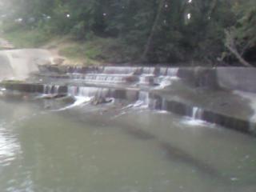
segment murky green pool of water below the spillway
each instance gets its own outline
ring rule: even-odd
[[[244,134],[146,110],[0,106],[0,191],[256,191]]]

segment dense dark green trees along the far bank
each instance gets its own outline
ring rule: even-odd
[[[255,60],[255,0],[8,0],[6,6],[8,22],[22,18],[23,27],[79,41],[114,38],[139,62]]]

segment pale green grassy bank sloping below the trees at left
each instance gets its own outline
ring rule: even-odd
[[[2,26],[2,38],[16,48],[43,48],[66,57],[69,64],[99,65],[104,63],[123,63],[135,60],[138,51],[125,46],[118,38],[99,38],[76,40],[69,35],[46,34],[42,30],[27,29],[13,24]]]

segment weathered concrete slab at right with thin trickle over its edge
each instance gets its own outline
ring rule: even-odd
[[[194,89],[184,82],[175,82],[169,89],[150,93],[151,107],[192,117],[200,109],[199,119],[241,132],[254,132],[255,110],[250,99],[227,90]]]

